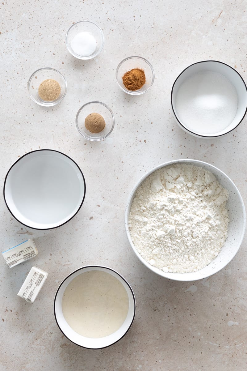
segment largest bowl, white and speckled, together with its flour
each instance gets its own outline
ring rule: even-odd
[[[145,174],[125,212],[131,247],[153,272],[192,281],[233,259],[243,240],[246,211],[231,179],[198,160],[175,160]]]

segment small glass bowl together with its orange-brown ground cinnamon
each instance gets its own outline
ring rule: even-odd
[[[140,95],[153,85],[154,69],[145,58],[128,57],[117,66],[116,79],[125,93]]]

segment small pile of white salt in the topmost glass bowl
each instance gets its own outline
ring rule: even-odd
[[[74,53],[81,57],[88,57],[95,51],[97,41],[90,32],[80,32],[73,37],[70,46]]]

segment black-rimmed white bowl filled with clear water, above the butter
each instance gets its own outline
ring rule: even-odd
[[[4,200],[20,223],[34,229],[61,226],[80,210],[86,184],[79,166],[54,150],[20,157],[4,181]]]

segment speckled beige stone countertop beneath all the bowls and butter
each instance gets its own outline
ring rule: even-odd
[[[79,213],[64,226],[31,230],[0,200],[1,249],[34,238],[39,255],[13,269],[1,260],[1,371],[242,371],[247,364],[246,239],[236,257],[214,276],[174,282],[147,269],[124,230],[124,209],[136,181],[162,162],[194,158],[216,165],[237,185],[246,203],[246,119],[217,139],[186,134],[174,121],[171,87],[191,63],[214,59],[247,80],[245,1],[6,1],[0,3],[1,164],[7,170],[39,148],[59,150],[81,167],[87,185]],[[73,22],[103,29],[105,46],[93,60],[73,58],[65,45]],[[144,95],[122,92],[115,79],[120,60],[140,55],[155,71]],[[53,108],[29,98],[34,70],[53,67],[68,91]],[[113,110],[116,125],[104,141],[83,139],[76,112],[98,100]],[[120,272],[136,295],[136,318],[112,347],[79,348],[59,331],[53,299],[61,280],[87,264]],[[17,297],[32,265],[48,272],[33,305]]]

